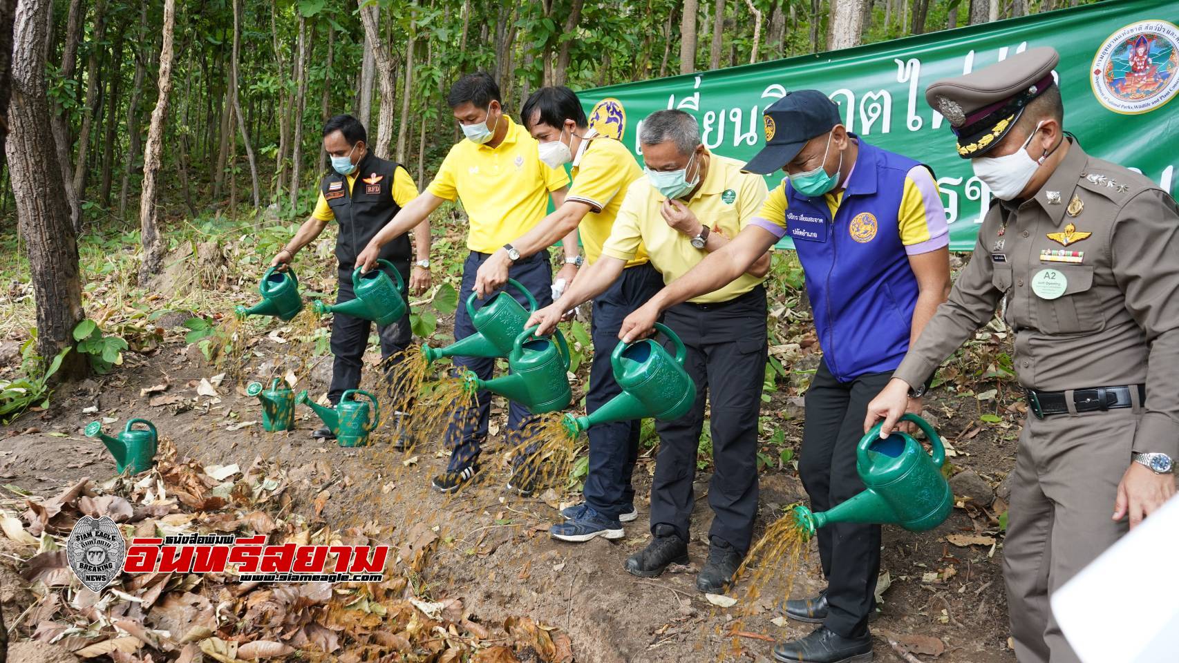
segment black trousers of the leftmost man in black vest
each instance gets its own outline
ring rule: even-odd
[[[382,267],[388,271],[388,267]],[[409,268],[399,268],[401,278],[409,286]],[[353,292],[353,270],[340,268],[337,277],[340,289],[336,292],[336,304],[356,299]],[[409,294],[406,293],[406,309],[409,309]],[[368,334],[373,329],[373,321],[363,318],[354,318],[343,313],[331,314],[331,386],[328,389],[328,400],[332,404],[340,403],[340,397],[349,389],[361,385],[361,366],[363,365],[364,350],[368,349]],[[413,333],[409,329],[409,313],[391,325],[377,325],[377,337],[381,339],[381,359],[397,356],[393,363],[400,360],[401,352],[409,346]],[[391,366],[393,363],[389,365]]]

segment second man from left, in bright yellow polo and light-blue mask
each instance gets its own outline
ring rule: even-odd
[[[450,87],[447,104],[462,127],[466,139],[450,148],[434,181],[426,191],[409,201],[361,252],[357,263],[365,268],[376,265],[376,258],[384,243],[402,234],[429,217],[444,200],[459,199],[467,212],[467,256],[462,267],[462,286],[459,300],[466,301],[474,292],[475,274],[492,253],[505,244],[529,231],[545,218],[548,198],[560,207],[569,178],[562,170],[554,170],[540,160],[536,140],[523,127],[503,113],[500,105],[500,87],[490,74],[479,72],[459,79]],[[577,231],[564,241],[567,258],[578,256]],[[540,251],[528,258],[519,258],[508,276],[522,284],[536,299],[547,305],[553,300],[553,273],[548,264],[548,252]],[[525,293],[509,289],[507,292],[528,306]],[[487,298],[476,300],[479,309]],[[454,320],[455,339],[475,333],[466,306],[459,306]],[[495,370],[495,360],[475,357],[455,357],[455,367],[469,369],[480,378],[488,379]],[[442,492],[462,488],[479,471],[479,453],[487,438],[487,420],[490,415],[492,396],[480,392],[476,411],[456,412],[446,432],[446,444],[453,447],[447,471],[434,478],[433,485]],[[520,444],[519,435],[528,419],[528,410],[512,403],[508,410],[508,444]],[[519,478],[513,477],[516,483]],[[508,488],[515,488],[508,482]]]

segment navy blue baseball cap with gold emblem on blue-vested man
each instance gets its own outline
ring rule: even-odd
[[[798,155],[806,141],[843,124],[839,107],[817,89],[788,92],[762,115],[765,147],[742,168],[768,175]]]

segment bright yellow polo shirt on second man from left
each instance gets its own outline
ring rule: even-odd
[[[532,230],[548,210],[548,193],[569,184],[564,168],[549,168],[536,139],[503,115],[503,141],[495,147],[462,139],[450,148],[426,191],[459,199],[467,211],[467,248],[493,253]]]

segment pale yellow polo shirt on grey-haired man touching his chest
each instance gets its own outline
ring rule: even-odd
[[[757,216],[768,190],[760,175],[740,172],[745,164],[736,159],[709,153],[709,172],[699,191],[687,200],[687,207],[711,232],[727,238],[737,237]],[[667,225],[659,207],[664,197],[646,178],[635,180],[626,190],[626,199],[618,211],[614,230],[602,246],[602,254],[619,260],[634,258],[639,244],[647,247],[651,264],[664,277],[664,284],[684,276],[704,259],[707,251],[692,246],[692,238]],[[697,304],[727,301],[753,290],[765,277],[742,274],[729,285],[690,299]]]

